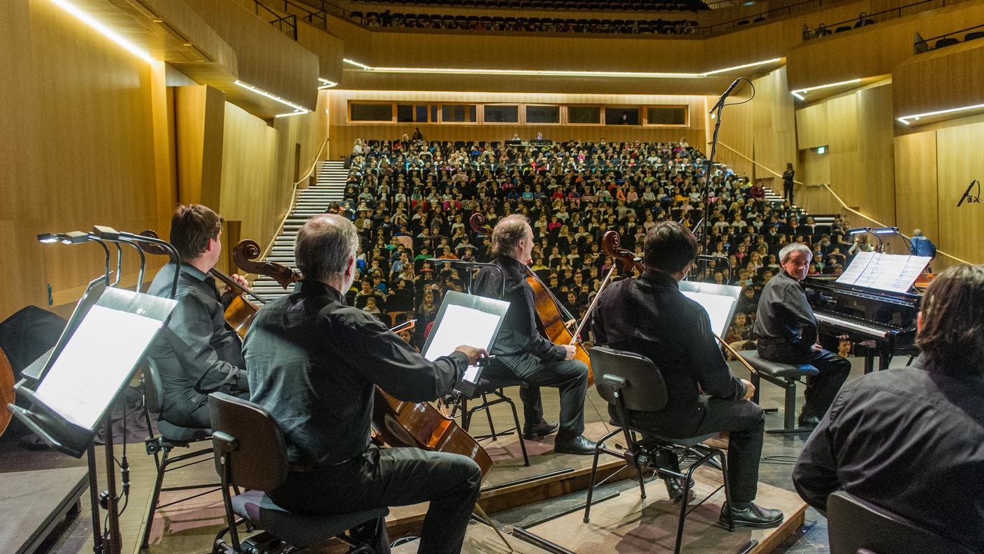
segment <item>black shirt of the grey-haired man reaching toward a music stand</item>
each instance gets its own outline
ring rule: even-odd
[[[314,467],[368,447],[376,384],[400,400],[433,400],[468,365],[460,352],[424,360],[371,313],[313,280],[257,312],[243,355],[250,399],[277,420],[288,462]]]

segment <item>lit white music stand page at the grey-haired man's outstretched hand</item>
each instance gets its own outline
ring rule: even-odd
[[[489,350],[508,310],[509,303],[502,300],[448,292],[427,336],[423,357],[433,362],[461,345]],[[479,366],[468,367],[456,388],[469,394],[480,374]]]

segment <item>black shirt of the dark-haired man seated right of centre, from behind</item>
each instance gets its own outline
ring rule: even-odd
[[[592,324],[598,344],[646,356],[666,382],[666,410],[691,412],[704,393],[725,400],[745,395],[731,375],[700,304],[685,297],[673,277],[647,270],[608,286]]]

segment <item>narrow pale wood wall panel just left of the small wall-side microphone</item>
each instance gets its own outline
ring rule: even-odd
[[[895,137],[895,223],[906,235],[921,229],[940,237],[936,131]]]

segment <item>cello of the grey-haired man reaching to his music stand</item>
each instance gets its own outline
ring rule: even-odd
[[[260,254],[256,242],[239,242],[232,251],[233,261],[243,271],[272,277],[284,287],[300,279],[297,272],[279,263],[253,261]],[[408,323],[412,324],[412,321]],[[391,330],[398,332],[406,326],[403,323]],[[481,469],[482,481],[492,470],[492,458],[488,452],[461,429],[454,418],[427,402],[399,400],[379,385],[373,394],[372,427],[376,436],[390,447],[411,447],[468,456]]]

